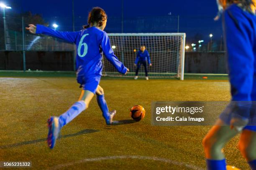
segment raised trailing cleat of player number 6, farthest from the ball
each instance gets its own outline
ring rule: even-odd
[[[59,117],[51,116],[47,120],[49,133],[47,137],[47,144],[50,149],[53,149],[60,132]]]

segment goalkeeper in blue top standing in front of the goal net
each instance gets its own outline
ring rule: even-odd
[[[148,80],[148,65],[147,65],[147,61],[148,61],[149,66],[152,66],[148,50],[146,50],[146,46],[145,45],[141,45],[141,50],[138,52],[136,60],[134,62],[134,66],[136,67],[136,75],[134,77],[135,80],[138,79],[138,71],[140,70],[141,64],[143,64],[143,66],[144,66],[146,80]]]

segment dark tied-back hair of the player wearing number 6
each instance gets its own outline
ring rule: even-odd
[[[88,15],[88,24],[83,25],[83,28],[89,28],[94,23],[98,23],[99,26],[102,26],[103,21],[105,21],[108,18],[107,14],[105,13],[105,10],[103,10],[101,7],[94,7],[90,11]]]

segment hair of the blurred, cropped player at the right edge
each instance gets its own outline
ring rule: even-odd
[[[233,3],[238,4],[243,10],[256,14],[256,0],[218,0],[219,4],[225,9]]]

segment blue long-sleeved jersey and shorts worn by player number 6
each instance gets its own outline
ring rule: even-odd
[[[118,72],[122,74],[127,72],[127,68],[114,55],[107,33],[97,27],[77,32],[60,32],[43,25],[36,25],[36,33],[61,38],[76,44],[77,82],[82,85],[84,90],[90,90],[93,93],[96,91],[102,75],[102,52]]]

